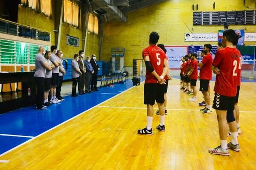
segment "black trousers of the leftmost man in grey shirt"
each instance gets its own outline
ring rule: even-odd
[[[34,77],[36,84],[36,107],[41,108],[44,104],[44,77]]]

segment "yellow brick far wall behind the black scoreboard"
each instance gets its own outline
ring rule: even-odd
[[[213,10],[215,2],[215,10]],[[128,21],[120,23],[111,21],[105,24],[102,46],[102,60],[109,61],[111,48],[125,47],[125,66],[132,66],[133,59],[141,59],[143,48],[148,46],[151,31],[160,35],[158,43],[165,45],[204,45],[217,42],[185,42],[184,33],[217,33],[224,26],[193,26],[192,4],[198,4],[198,11],[232,11],[253,10],[255,0],[168,0],[126,14]],[[196,11],[196,10],[195,10]],[[245,32],[256,32],[256,26],[229,26],[233,29],[244,29]],[[255,42],[245,42],[256,45]]]

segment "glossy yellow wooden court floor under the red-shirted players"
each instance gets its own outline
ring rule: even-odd
[[[241,83],[239,143],[230,156],[208,153],[219,145],[216,113],[202,114],[198,102],[169,82],[166,131],[142,136],[146,125],[143,83],[0,157],[1,170],[255,170],[256,83]],[[199,87],[199,82],[198,85]],[[211,82],[213,90],[214,82]],[[213,91],[212,91],[213,96]],[[212,97],[213,98],[213,97]],[[212,100],[212,99],[211,99]],[[155,105],[157,108],[157,105]],[[156,111],[156,110],[155,110]],[[229,142],[230,139],[228,139]]]

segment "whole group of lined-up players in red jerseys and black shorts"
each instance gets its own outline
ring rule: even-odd
[[[152,135],[152,121],[154,115],[153,105],[157,102],[160,115],[160,124],[157,130],[165,131],[166,93],[168,81],[172,79],[169,76],[169,65],[166,57],[166,49],[163,44],[158,44],[160,36],[157,32],[151,32],[149,35],[149,45],[143,50],[143,59],[146,65],[145,85],[144,85],[144,104],[147,105],[147,123],[146,127],[137,131],[138,134]],[[221,43],[218,43],[218,51],[215,58],[212,59],[211,44],[205,44],[201,51],[203,60],[198,63],[196,53],[188,54],[182,57],[180,66],[181,88],[192,98],[189,102],[197,101],[197,79],[200,79],[200,88],[204,96],[204,101],[199,105],[204,105],[202,113],[212,113],[215,109],[218,120],[218,130],[220,145],[208,150],[209,153],[216,155],[229,156],[229,150],[239,151],[238,134],[241,133],[239,127],[239,108],[238,98],[241,83],[241,53],[236,48],[239,36],[233,29],[227,29],[223,32]],[[198,68],[200,73],[198,76]],[[211,107],[210,86],[212,72],[216,74],[216,81],[213,91],[214,99]],[[227,136],[231,136],[231,141],[227,142]]]

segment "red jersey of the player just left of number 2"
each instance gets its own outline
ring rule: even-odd
[[[200,69],[200,79],[211,80],[212,79],[212,54],[207,54],[202,60],[204,63],[203,67]]]

